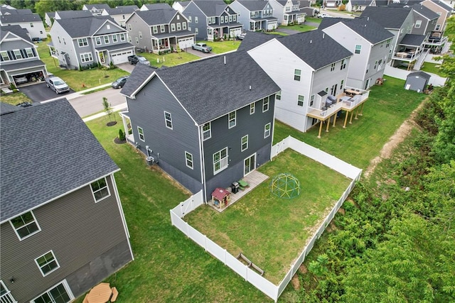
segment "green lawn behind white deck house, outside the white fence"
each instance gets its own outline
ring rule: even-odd
[[[319,124],[306,133],[294,130],[283,123],[275,123],[274,143],[291,135],[309,145],[330,153],[352,165],[365,169],[379,155],[382,146],[396,129],[419,106],[425,94],[405,90],[405,81],[391,77],[382,86],[374,86],[365,102],[363,116],[353,119],[343,128],[344,114],[337,119],[336,127],[323,131],[317,138]],[[325,130],[325,125],[324,125]]]

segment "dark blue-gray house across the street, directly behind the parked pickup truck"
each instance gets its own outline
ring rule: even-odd
[[[198,40],[213,41],[223,37],[237,37],[242,33],[238,13],[223,0],[192,0],[183,9],[189,29]]]

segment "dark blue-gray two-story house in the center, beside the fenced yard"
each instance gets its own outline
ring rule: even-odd
[[[209,199],[270,160],[279,90],[245,52],[159,70],[137,65],[121,91],[127,138]]]

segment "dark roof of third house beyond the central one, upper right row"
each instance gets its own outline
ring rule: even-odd
[[[369,17],[379,23],[383,28],[401,28],[412,9],[387,7],[387,6],[367,6],[361,17]]]

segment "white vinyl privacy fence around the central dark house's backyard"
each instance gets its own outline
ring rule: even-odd
[[[338,202],[336,202],[335,206],[331,210],[330,214],[326,216],[326,219],[322,222],[321,226],[319,226],[318,231],[314,233],[314,235],[309,240],[308,244],[304,247],[301,251],[299,258],[291,265],[291,268],[287,272],[287,275],[284,276],[284,279],[279,283],[279,285],[274,285],[269,280],[265,279],[261,275],[259,275],[255,270],[248,267],[244,263],[237,260],[235,256],[228,253],[225,248],[222,248],[217,243],[207,238],[207,236],[203,235],[191,225],[183,221],[183,216],[188,214],[190,211],[198,208],[198,206],[203,204],[203,192],[200,191],[197,194],[194,194],[185,202],[181,202],[176,207],[171,209],[171,223],[176,228],[180,229],[183,233],[185,233],[188,238],[191,238],[193,241],[199,244],[199,246],[203,247],[208,253],[213,255],[215,258],[220,260],[223,264],[229,266],[232,270],[237,272],[238,275],[243,277],[246,281],[250,282],[254,285],[258,290],[266,294],[268,297],[274,299],[277,302],[278,297],[284,291],[284,288],[288,285],[291,281],[291,278],[295,275],[296,271],[299,269],[301,263],[304,262],[306,255],[309,254],[311,248],[313,248],[314,243],[316,242],[319,237],[321,237],[323,231],[326,229],[330,221],[335,216],[338,209],[340,209],[343,202],[346,200],[350,192],[352,191],[355,181],[360,179],[360,174],[362,170],[353,165],[350,165],[338,158],[329,155],[328,153],[319,150],[318,148],[314,148],[306,143],[296,140],[289,136],[288,138],[284,139],[282,142],[277,143],[277,145],[272,146],[271,151],[271,158],[281,153],[283,150],[287,148],[291,148],[302,155],[305,155],[308,158],[316,160],[323,165],[331,167],[336,172],[345,175],[346,177],[350,178],[352,181],[350,182],[348,188],[343,192]]]

